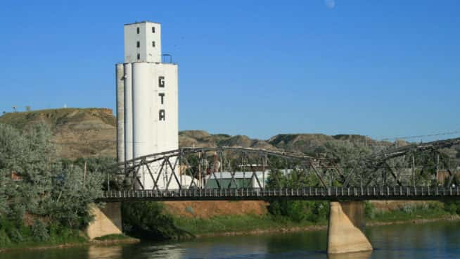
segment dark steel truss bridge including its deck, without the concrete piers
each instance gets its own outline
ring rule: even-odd
[[[358,154],[307,156],[243,147],[181,148],[119,163],[101,201],[443,199],[458,196],[460,138]]]

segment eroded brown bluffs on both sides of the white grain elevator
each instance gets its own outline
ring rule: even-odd
[[[112,110],[106,108],[63,108],[6,113],[0,123],[18,129],[43,122],[53,130],[59,156],[79,158],[89,156],[116,156],[116,122]],[[309,153],[327,142],[350,141],[369,146],[388,146],[391,143],[375,141],[361,135],[278,134],[270,139],[250,139],[247,136],[210,134],[202,130],[179,132],[179,146],[244,146],[260,149],[284,149]],[[402,145],[402,144],[400,144]]]

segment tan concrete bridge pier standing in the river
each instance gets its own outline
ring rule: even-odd
[[[328,253],[371,251],[364,229],[364,202],[331,201],[328,225]]]

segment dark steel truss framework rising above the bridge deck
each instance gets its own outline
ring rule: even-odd
[[[181,148],[115,165],[108,170],[108,190],[167,195],[173,190],[210,189],[230,195],[230,190],[254,189],[262,190],[264,198],[269,195],[264,193],[267,188],[435,187],[440,184],[440,170],[441,184],[456,187],[459,159],[449,158],[442,149],[459,144],[460,138],[411,144],[345,163],[328,156],[243,147]],[[110,187],[110,182],[115,184]]]

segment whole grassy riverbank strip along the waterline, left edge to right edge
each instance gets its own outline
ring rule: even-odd
[[[143,204],[140,204],[143,205]],[[275,234],[290,232],[309,232],[327,229],[327,217],[314,218],[315,221],[295,221],[288,217],[274,216],[269,213],[264,215],[218,215],[213,217],[186,217],[184,215],[172,215],[160,203],[149,203],[145,212],[155,217],[143,217],[146,222],[155,223],[149,225],[153,230],[136,236],[136,233],[126,235],[103,236],[89,241],[82,232],[63,237],[52,236],[48,242],[20,242],[8,247],[0,248],[0,251],[13,251],[18,249],[46,249],[65,248],[70,246],[129,244],[139,242],[141,239],[155,241],[167,239],[193,239],[209,236],[238,236],[247,234]],[[366,203],[366,225],[397,225],[397,224],[423,224],[435,221],[460,221],[460,216],[449,210],[444,203],[430,202],[420,204],[404,204],[391,210],[375,208],[372,203]],[[139,215],[138,208],[133,210]],[[145,215],[144,215],[145,216]],[[159,234],[156,234],[159,233]],[[186,234],[184,234],[186,233]]]

